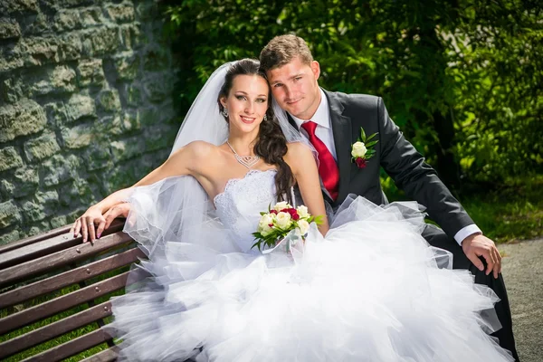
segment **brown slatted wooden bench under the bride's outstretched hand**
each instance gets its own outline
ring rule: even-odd
[[[111,293],[124,292],[129,265],[145,254],[120,220],[94,245],[73,238],[70,227],[0,247],[0,360],[116,359],[100,327]]]

